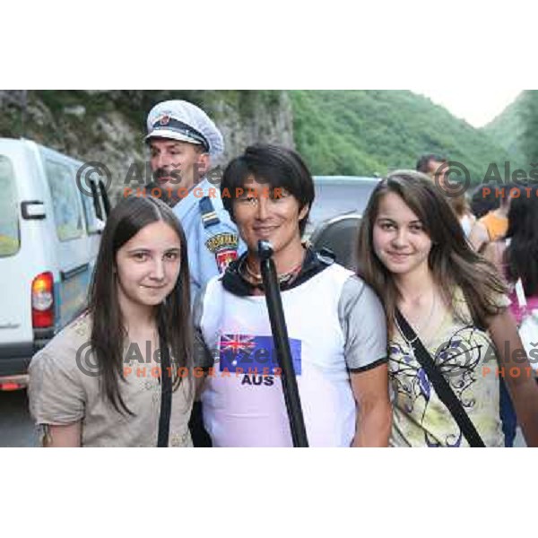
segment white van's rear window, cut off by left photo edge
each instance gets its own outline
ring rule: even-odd
[[[19,250],[19,204],[11,161],[0,155],[0,257]]]

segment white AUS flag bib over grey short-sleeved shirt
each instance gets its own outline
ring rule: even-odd
[[[234,262],[195,305],[213,354],[202,402],[215,447],[291,447],[265,296],[247,294]],[[308,250],[295,286],[282,291],[291,355],[311,447],[349,447],[356,403],[350,371],[386,363],[385,313],[375,293],[341,265]]]

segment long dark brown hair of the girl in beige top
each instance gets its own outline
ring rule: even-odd
[[[133,414],[119,390],[124,376],[126,329],[117,297],[116,254],[129,239],[152,222],[164,221],[176,231],[181,245],[178,281],[169,296],[156,308],[161,338],[171,351],[172,371],[192,364],[192,326],[187,239],[177,217],[169,207],[152,197],[129,196],[122,199],[108,216],[91,282],[88,313],[91,316],[91,349],[100,368],[100,390],[117,412]],[[165,375],[165,372],[162,372]],[[174,376],[174,389],[181,376]]]

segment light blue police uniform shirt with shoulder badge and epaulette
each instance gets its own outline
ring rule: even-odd
[[[213,276],[245,251],[235,224],[224,209],[219,187],[207,178],[176,204],[173,212],[187,236],[191,300]]]

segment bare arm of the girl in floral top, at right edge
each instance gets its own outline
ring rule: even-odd
[[[506,308],[491,319],[489,328],[526,444],[538,447],[538,385],[517,334],[516,321]]]

